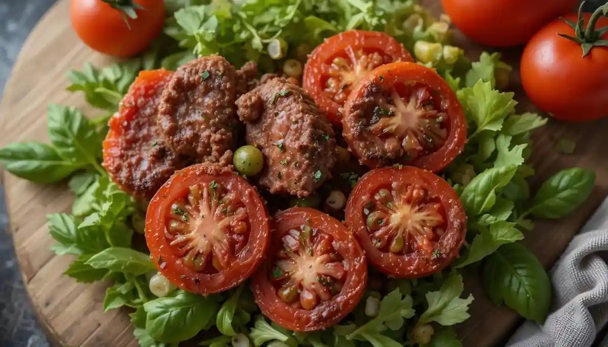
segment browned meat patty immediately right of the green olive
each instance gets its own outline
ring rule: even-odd
[[[259,183],[272,194],[306,197],[331,178],[336,138],[302,88],[274,78],[241,96],[237,107],[247,143],[264,155]]]

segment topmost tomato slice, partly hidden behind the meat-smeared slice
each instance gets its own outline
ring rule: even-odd
[[[382,32],[350,30],[331,36],[311,53],[303,87],[331,123],[341,126],[340,107],[365,73],[395,61],[413,61],[396,39]]]

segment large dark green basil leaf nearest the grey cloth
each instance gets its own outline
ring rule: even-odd
[[[500,247],[486,258],[483,284],[496,305],[542,323],[551,304],[551,281],[538,259],[521,243]]]

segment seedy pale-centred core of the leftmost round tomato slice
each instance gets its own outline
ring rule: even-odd
[[[221,183],[193,184],[187,198],[171,204],[167,240],[176,255],[196,272],[214,274],[229,268],[249,239],[247,210]]]

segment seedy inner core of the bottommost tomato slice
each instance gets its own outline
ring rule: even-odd
[[[346,270],[333,237],[303,225],[289,230],[281,241],[269,278],[283,302],[312,310],[339,294]]]

